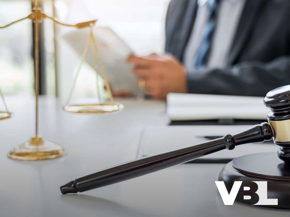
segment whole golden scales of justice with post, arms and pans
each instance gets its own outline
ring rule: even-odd
[[[57,21],[57,19],[50,17],[46,14],[44,14],[41,11],[41,8],[38,5],[38,1],[35,1],[35,7],[32,10],[32,13],[28,16],[13,21],[12,23],[9,23],[4,26],[0,26],[1,28],[8,27],[9,25],[12,25],[14,23],[17,23],[19,21],[22,21],[24,19],[31,19],[35,28],[34,31],[34,67],[35,67],[35,135],[33,135],[29,141],[24,142],[23,144],[20,144],[19,146],[14,147],[9,153],[8,157],[11,159],[17,159],[17,160],[44,160],[44,159],[53,159],[57,157],[62,157],[66,155],[66,150],[58,144],[55,144],[51,141],[48,141],[44,139],[41,135],[38,133],[38,119],[39,119],[39,105],[38,105],[38,98],[39,98],[39,23],[42,22],[43,19],[48,18],[59,25],[64,25],[68,27],[75,27],[77,29],[81,28],[90,28],[90,35],[88,38],[88,41],[86,43],[86,46],[84,48],[84,52],[81,58],[81,63],[77,69],[77,73],[75,75],[75,78],[73,80],[73,85],[70,91],[70,94],[68,96],[68,100],[66,102],[66,105],[64,106],[64,110],[71,113],[85,113],[85,114],[104,114],[104,113],[115,113],[118,111],[122,111],[124,108],[123,104],[114,102],[113,95],[110,89],[110,85],[108,83],[106,73],[104,70],[104,66],[98,51],[97,43],[95,41],[95,37],[93,35],[93,26],[97,22],[97,20],[87,21],[83,23],[77,23],[74,25],[61,23]],[[97,83],[97,93],[98,93],[98,102],[95,104],[70,104],[70,99],[73,94],[73,90],[75,88],[75,84],[77,82],[77,78],[79,75],[79,72],[81,70],[81,66],[86,58],[86,54],[88,52],[89,46],[92,46],[92,56],[94,60],[94,70],[96,72],[96,83]],[[97,60],[99,62],[99,67],[102,71],[102,76],[105,81],[106,90],[109,93],[110,101],[109,102],[103,102],[104,100],[101,98],[100,94],[100,85],[99,85],[99,74],[97,71]],[[13,114],[8,110],[8,106],[5,102],[4,95],[0,89],[0,96],[2,98],[3,104],[5,106],[5,111],[0,111],[0,120],[9,119],[13,116]]]

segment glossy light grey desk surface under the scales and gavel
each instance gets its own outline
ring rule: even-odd
[[[71,179],[134,159],[141,130],[168,124],[164,102],[122,99],[121,113],[79,115],[65,113],[54,99],[41,98],[40,133],[64,146],[68,155],[23,162],[6,154],[33,134],[34,101],[7,101],[15,116],[0,122],[0,216],[289,216],[289,210],[223,205],[214,181],[224,164],[182,164],[62,195],[60,185]]]

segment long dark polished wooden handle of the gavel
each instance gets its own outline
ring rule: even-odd
[[[226,134],[220,139],[211,140],[205,143],[164,152],[157,155],[143,157],[141,159],[136,159],[106,168],[99,172],[77,178],[74,181],[64,185],[70,185],[68,188],[75,189],[75,192],[66,191],[64,186],[61,187],[64,189],[61,190],[61,192],[64,194],[84,192],[162,170],[180,163],[185,163],[226,148],[232,150],[235,146],[240,144],[270,140],[273,136],[274,133],[270,124],[264,122],[233,136]]]

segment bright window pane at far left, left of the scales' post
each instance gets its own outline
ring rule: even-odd
[[[0,1],[0,25],[6,25],[31,13],[30,1]],[[32,24],[26,19],[0,29],[0,87],[6,95],[34,93]]]

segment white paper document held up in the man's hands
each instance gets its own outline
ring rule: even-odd
[[[135,76],[131,73],[132,67],[126,63],[128,56],[133,54],[131,48],[109,27],[95,27],[93,29],[93,34],[102,62],[104,63],[108,81],[113,91],[130,89],[133,95],[142,93],[138,88]],[[81,60],[89,36],[90,30],[87,28],[83,30],[73,30],[65,34],[63,38],[78,54]],[[91,46],[88,49],[86,62],[88,62],[91,67],[94,67]],[[97,65],[99,65],[98,62]],[[102,76],[101,73],[100,75]]]

